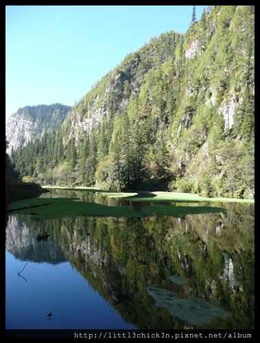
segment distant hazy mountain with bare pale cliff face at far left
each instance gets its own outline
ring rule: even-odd
[[[19,108],[6,123],[10,143],[8,153],[29,141],[40,138],[45,131],[59,128],[71,106],[62,104],[25,106]]]

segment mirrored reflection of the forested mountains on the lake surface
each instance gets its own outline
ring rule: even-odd
[[[214,206],[228,211],[186,219],[156,215],[44,222],[11,215],[6,246],[24,261],[67,259],[137,328],[252,329],[254,207]],[[38,242],[43,232],[50,237]]]

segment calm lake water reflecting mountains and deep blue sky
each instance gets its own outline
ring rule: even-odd
[[[43,196],[147,206],[86,191]],[[255,205],[206,206],[227,211],[185,219],[10,215],[6,329],[254,329]]]

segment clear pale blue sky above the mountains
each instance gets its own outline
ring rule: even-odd
[[[205,6],[196,6],[200,19]],[[73,105],[150,38],[186,32],[192,5],[5,7],[5,119],[27,105]]]

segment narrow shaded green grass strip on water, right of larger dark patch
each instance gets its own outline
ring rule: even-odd
[[[143,211],[153,214],[171,215],[172,217],[185,217],[189,214],[225,212],[226,209],[211,206],[145,206]]]

